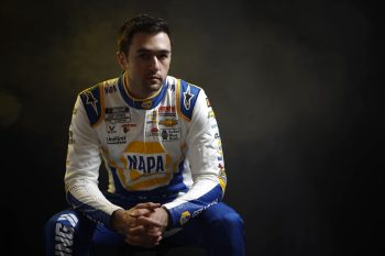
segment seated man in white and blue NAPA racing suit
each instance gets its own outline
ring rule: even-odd
[[[227,179],[210,102],[201,88],[167,76],[167,23],[131,19],[118,48],[122,76],[77,98],[65,175],[73,208],[47,222],[46,254],[166,241],[208,255],[245,255],[243,222],[221,202]],[[105,193],[98,188],[101,158],[109,172]]]

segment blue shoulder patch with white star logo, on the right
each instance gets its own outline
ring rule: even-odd
[[[195,103],[197,102],[200,88],[188,84],[184,80],[178,80],[177,85],[177,107],[182,115],[188,121],[191,121]]]

